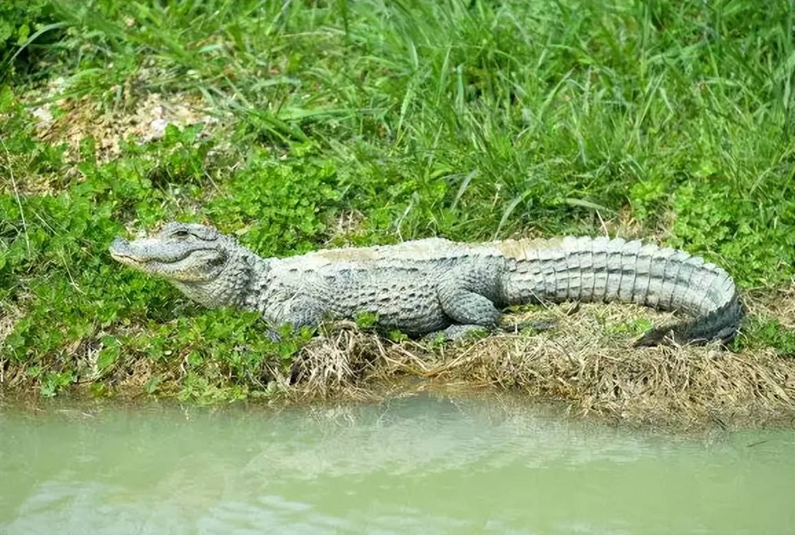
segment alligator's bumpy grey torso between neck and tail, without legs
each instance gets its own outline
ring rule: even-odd
[[[504,262],[497,250],[483,257],[481,249],[426,238],[279,258],[270,269],[270,300],[288,301],[311,288],[312,296],[334,316],[355,318],[372,312],[383,327],[423,335],[452,324],[439,297],[440,287],[456,280],[452,269],[470,273],[479,262]]]

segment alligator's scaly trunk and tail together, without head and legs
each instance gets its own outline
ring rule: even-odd
[[[319,250],[281,258],[275,266],[288,285],[297,274],[313,273],[317,285],[328,287],[328,300],[342,316],[373,311],[408,331],[439,328],[451,317],[467,316],[451,309],[459,306],[456,300],[471,300],[473,293],[497,306],[615,300],[690,316],[683,324],[653,331],[643,343],[657,343],[672,331],[682,343],[727,341],[743,317],[734,281],[723,269],[681,250],[621,238],[474,244],[427,238]],[[440,289],[451,285],[464,293],[440,302]]]

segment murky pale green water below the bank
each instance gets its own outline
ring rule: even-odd
[[[795,533],[795,436],[493,398],[0,407],[0,534]]]

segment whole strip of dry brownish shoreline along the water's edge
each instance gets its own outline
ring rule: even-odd
[[[66,398],[122,402],[153,397],[195,405],[246,400],[292,406],[455,390],[562,404],[569,417],[619,425],[756,428],[778,422],[795,427],[795,359],[787,355],[715,345],[632,347],[637,333],[626,326],[650,312],[626,305],[584,304],[573,314],[555,307],[511,319],[549,319],[550,314],[556,324],[548,331],[444,344],[396,342],[351,324],[327,326],[298,350],[289,367],[265,364],[270,376],[265,390],[254,382],[219,387],[236,388],[237,396],[186,397],[180,390],[185,378],[174,369],[157,393],[146,393],[145,384],[164,370],[142,359],[122,359],[107,381],[111,386],[99,395],[93,382],[82,379],[65,393]],[[652,320],[665,324],[669,315],[657,313]],[[30,378],[21,378],[2,390],[41,399],[34,387]]]

